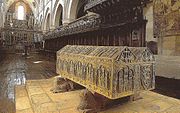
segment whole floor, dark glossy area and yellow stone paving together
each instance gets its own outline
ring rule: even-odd
[[[56,74],[55,62],[48,60],[38,54],[30,54],[28,57],[23,57],[22,54],[7,54],[0,61],[0,113],[14,113],[14,102],[16,102],[16,110],[22,113],[78,112],[76,107],[80,101],[79,94],[81,91],[61,94],[49,92],[52,79],[45,79]],[[179,65],[178,63],[175,64]],[[26,80],[35,81],[29,81],[25,85]],[[14,91],[15,85],[18,85],[16,91]],[[16,92],[16,100],[14,92]],[[154,92],[142,93],[142,97],[141,100],[122,103],[103,112],[180,112],[179,100],[177,99]]]

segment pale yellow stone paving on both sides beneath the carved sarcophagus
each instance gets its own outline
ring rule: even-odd
[[[16,87],[17,113],[79,113],[82,90],[57,93],[50,92],[52,79],[27,81]],[[152,91],[141,93],[142,99],[122,102],[100,113],[179,113],[180,100]]]

